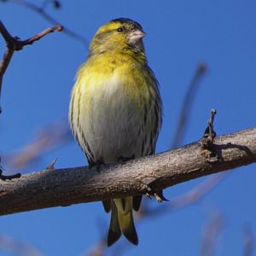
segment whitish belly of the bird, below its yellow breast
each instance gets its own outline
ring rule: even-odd
[[[132,102],[123,86],[113,77],[96,87],[92,96],[87,93],[88,88],[84,88],[81,95],[81,101],[87,103],[82,104],[80,111],[79,126],[83,134],[78,139],[81,140],[79,144],[84,145],[84,151],[90,151],[94,161],[103,160],[108,164],[121,157],[143,155],[143,143],[147,137],[143,129],[144,109]],[[83,144],[83,137],[87,145]]]

